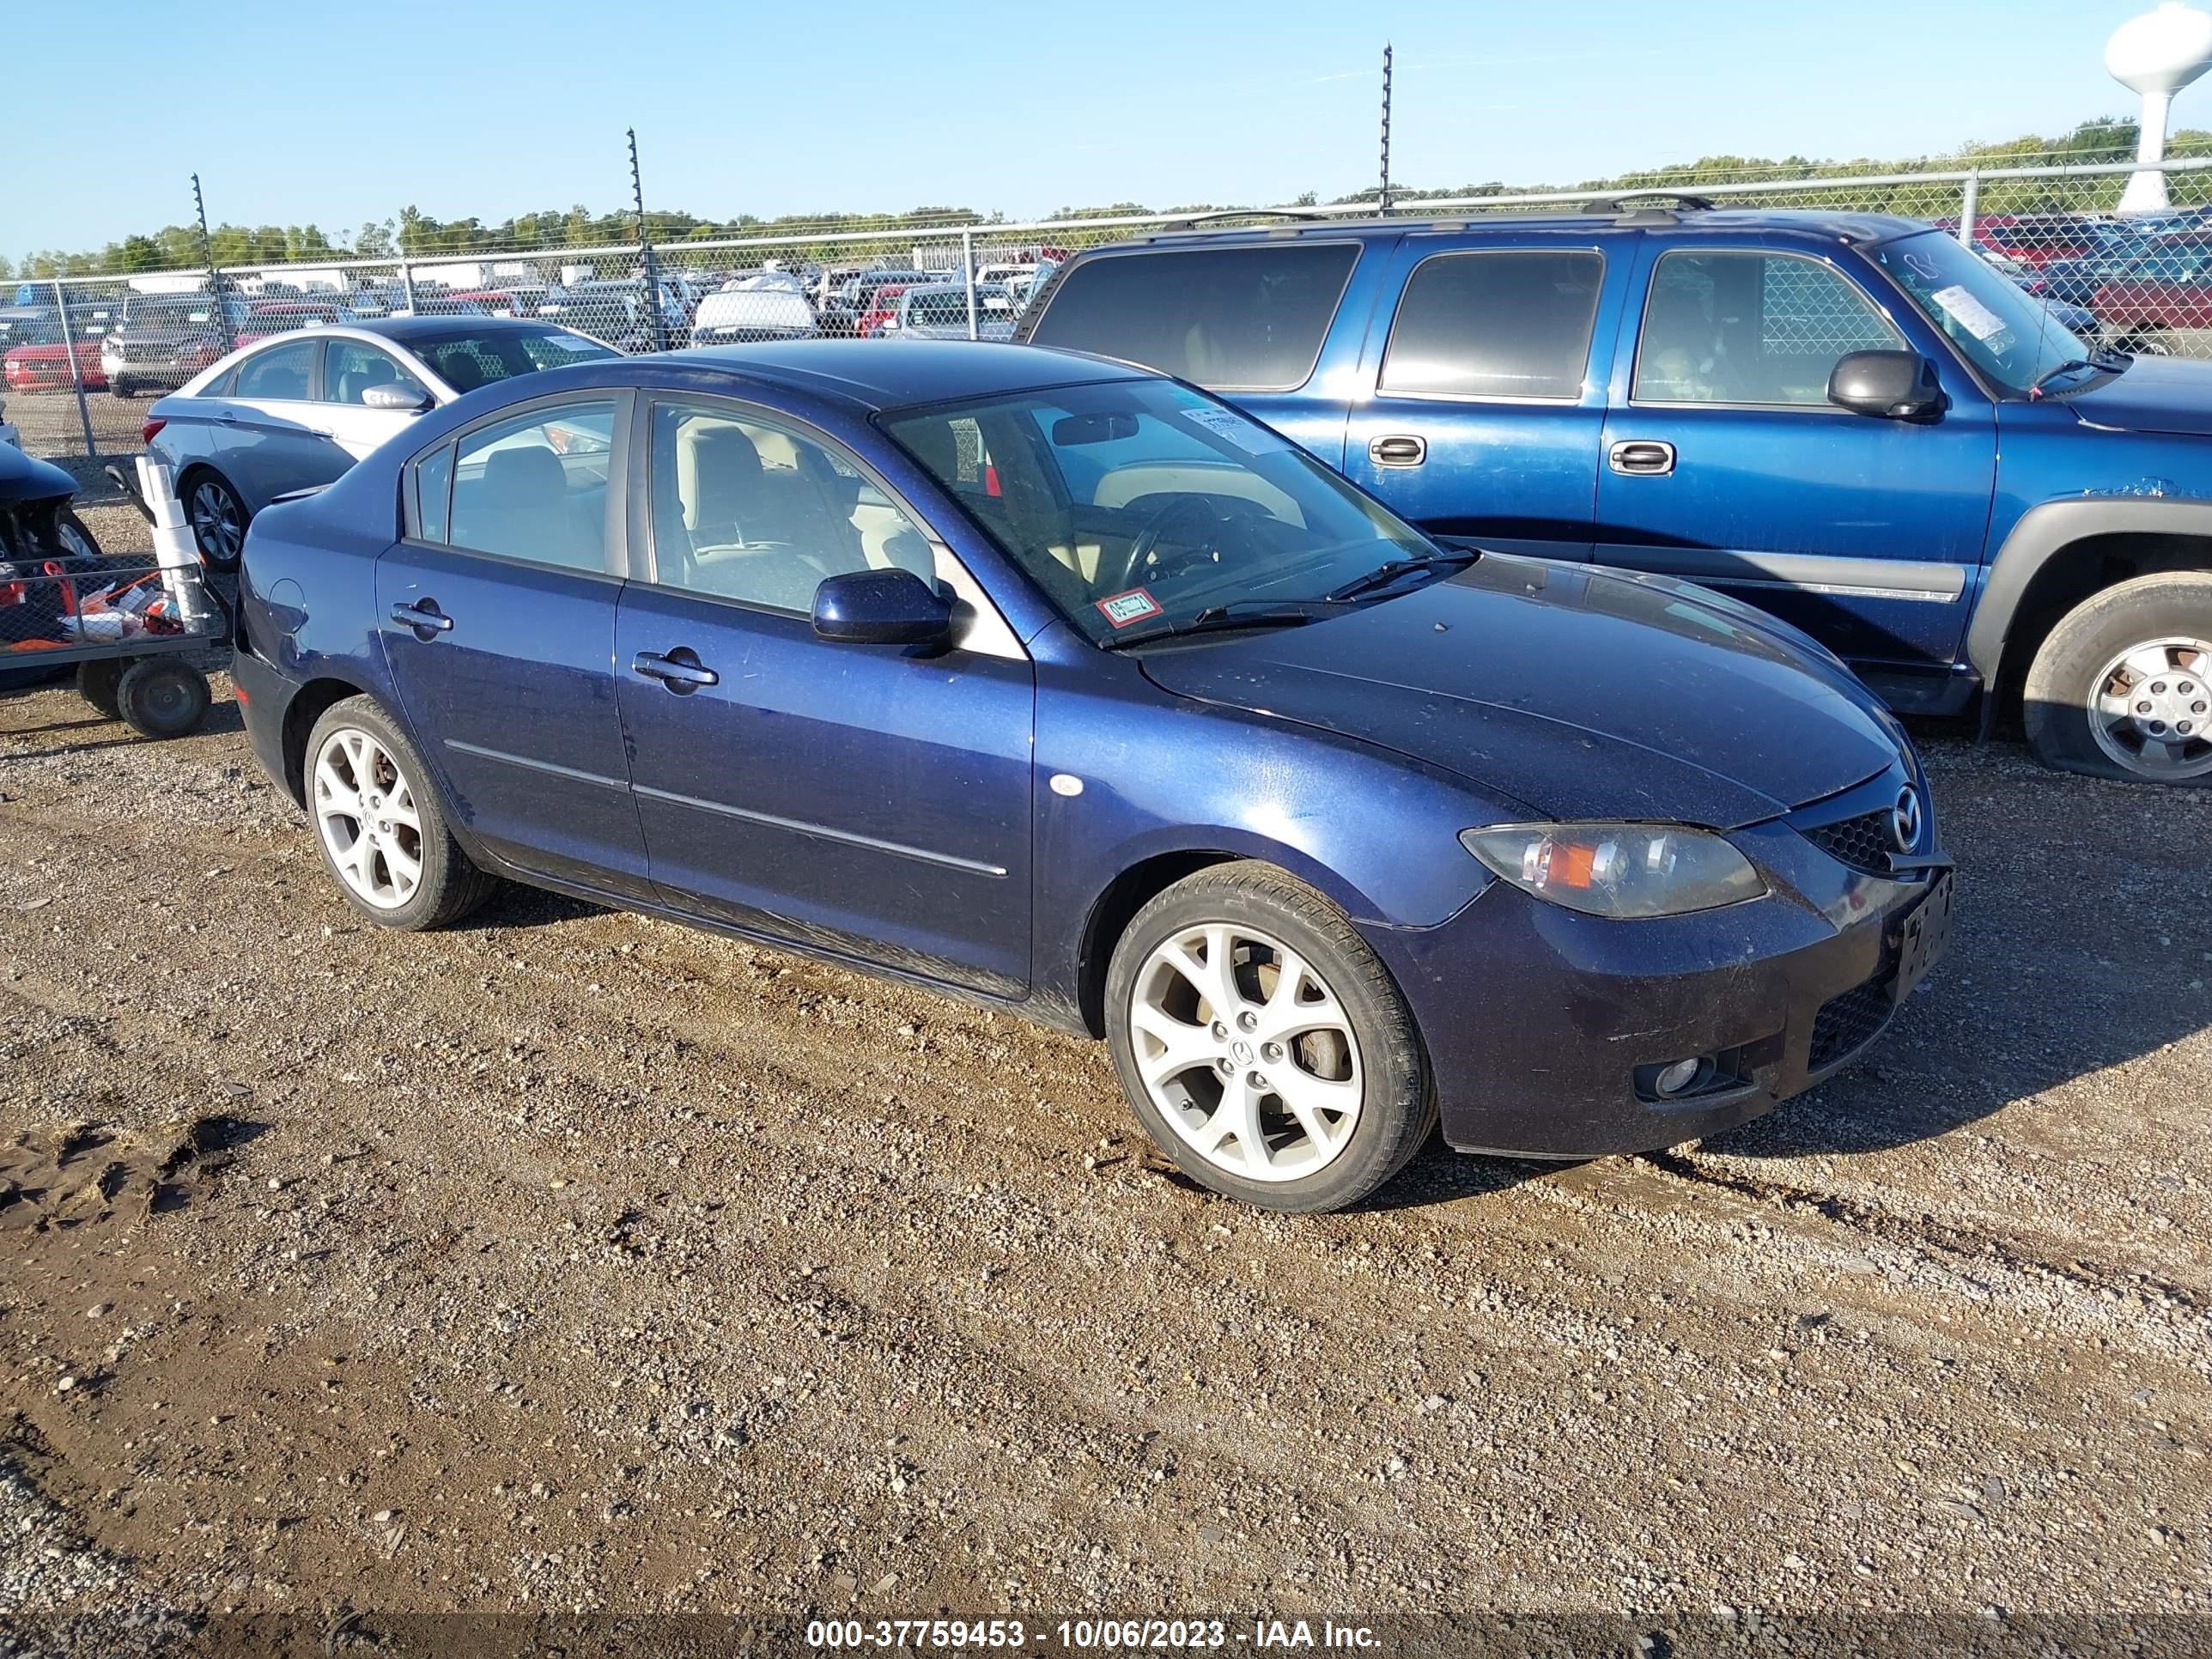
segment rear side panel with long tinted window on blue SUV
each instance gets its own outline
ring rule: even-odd
[[[1097,254],[1055,283],[1029,341],[1201,385],[1340,467],[1352,403],[1338,363],[1358,358],[1389,246],[1265,234]]]

